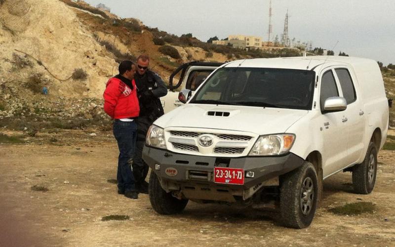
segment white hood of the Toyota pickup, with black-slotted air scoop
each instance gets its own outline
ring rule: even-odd
[[[209,115],[212,112],[214,116]],[[154,124],[162,128],[213,128],[264,135],[285,132],[307,113],[307,110],[295,109],[186,104],[163,115]]]

